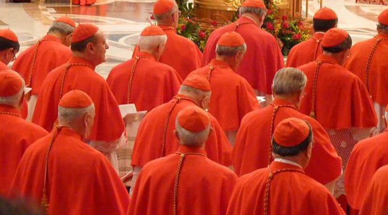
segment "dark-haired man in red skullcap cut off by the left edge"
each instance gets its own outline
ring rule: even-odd
[[[0,30],[0,71],[8,70],[8,63],[15,60],[16,53],[20,49],[20,44],[16,34],[10,29]],[[23,99],[23,103],[20,110],[21,117],[27,118],[28,104],[27,100]]]

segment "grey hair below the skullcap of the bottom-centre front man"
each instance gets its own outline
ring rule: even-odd
[[[182,128],[178,123],[177,117],[175,120],[175,129],[178,132],[180,144],[189,146],[202,146],[209,137],[210,124],[208,128],[202,131],[193,132]]]

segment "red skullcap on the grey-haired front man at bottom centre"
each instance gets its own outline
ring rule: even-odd
[[[200,132],[210,125],[209,114],[197,106],[184,108],[177,117],[180,127],[188,131]]]

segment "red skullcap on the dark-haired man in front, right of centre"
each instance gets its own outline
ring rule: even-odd
[[[287,118],[282,120],[275,128],[274,140],[277,144],[285,147],[299,145],[308,137],[310,128],[302,119]]]

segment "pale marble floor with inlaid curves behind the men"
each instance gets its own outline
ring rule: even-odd
[[[148,17],[154,1],[97,0],[91,6],[70,7],[68,1],[63,0],[42,5],[6,3],[5,0],[0,0],[0,29],[14,30],[23,51],[45,35],[51,21],[59,16],[67,14],[77,23],[93,23],[106,34],[110,46],[106,62],[97,67],[97,72],[106,77],[114,65],[132,56],[140,31],[150,25]],[[348,30],[354,42],[371,38],[376,33],[378,14],[388,8],[382,5],[357,4],[355,0],[323,0],[323,6],[335,10],[339,16],[339,28]],[[305,7],[302,9],[306,11]],[[318,1],[310,0],[309,16],[317,9]]]

